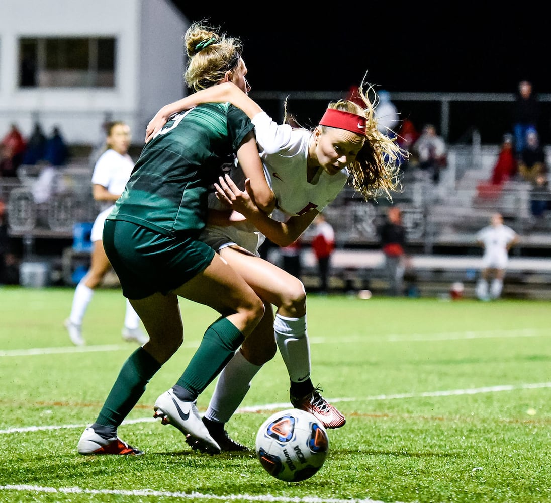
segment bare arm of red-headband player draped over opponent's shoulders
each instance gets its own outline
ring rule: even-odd
[[[189,110],[202,103],[226,103],[226,101],[243,110],[250,119],[262,111],[260,105],[249,98],[237,85],[232,82],[223,82],[207,89],[201,89],[163,106],[153,119],[149,121],[145,129],[145,143],[151,140],[163,128],[172,114],[181,112],[182,110]]]

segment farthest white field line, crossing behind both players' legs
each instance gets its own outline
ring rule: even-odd
[[[486,330],[486,331],[465,331],[465,332],[446,332],[441,334],[395,334],[387,335],[385,339],[390,343],[408,342],[408,341],[434,341],[434,340],[470,340],[470,339],[488,339],[488,338],[517,338],[517,337],[540,337],[551,335],[551,330],[547,329],[518,329],[518,330]],[[365,336],[355,336],[349,338],[324,338],[310,337],[310,344],[342,344],[365,341]],[[198,341],[183,343],[181,347],[197,347]],[[0,350],[0,357],[4,356],[40,356],[56,355],[64,353],[85,353],[98,351],[120,351],[128,349],[128,345],[123,344],[104,344],[91,346],[62,346],[62,347],[31,347],[30,349],[12,349]]]

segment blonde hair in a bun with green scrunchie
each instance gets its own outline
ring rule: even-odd
[[[239,65],[241,59],[241,41],[215,30],[196,22],[184,35],[187,69],[183,78],[188,87],[196,91],[222,81],[225,73]]]

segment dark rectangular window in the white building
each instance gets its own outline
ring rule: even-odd
[[[20,87],[114,87],[114,38],[19,39]]]

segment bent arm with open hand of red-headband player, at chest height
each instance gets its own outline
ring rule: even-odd
[[[229,175],[220,176],[219,184],[214,184],[219,200],[233,210],[245,215],[264,236],[280,247],[294,243],[306,228],[314,221],[317,210],[310,210],[304,215],[289,218],[287,222],[278,222],[270,218],[255,204],[251,195],[250,180],[245,180],[245,190],[240,190]]]

